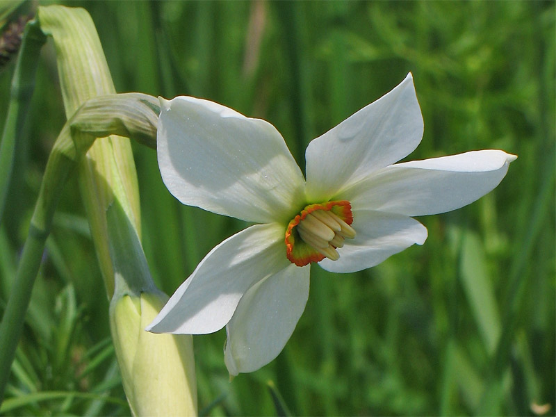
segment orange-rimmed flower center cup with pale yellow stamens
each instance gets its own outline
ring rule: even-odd
[[[355,237],[350,202],[345,200],[309,204],[291,220],[286,229],[286,256],[297,266],[325,257],[336,261],[346,238]]]

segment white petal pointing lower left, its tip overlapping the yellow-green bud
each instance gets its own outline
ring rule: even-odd
[[[229,322],[250,286],[288,265],[281,224],[248,227],[204,257],[147,330],[175,334],[216,332]]]

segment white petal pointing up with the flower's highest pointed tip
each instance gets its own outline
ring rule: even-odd
[[[305,152],[306,195],[322,202],[409,155],[423,137],[413,78],[312,140]]]

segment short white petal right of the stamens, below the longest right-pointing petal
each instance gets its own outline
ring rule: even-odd
[[[345,239],[337,249],[340,259],[323,259],[318,264],[330,272],[355,272],[378,265],[407,247],[423,245],[427,229],[406,215],[379,211],[353,211],[352,227],[357,231],[353,240]]]

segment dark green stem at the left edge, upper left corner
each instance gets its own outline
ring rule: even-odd
[[[45,41],[46,37],[40,31],[37,22],[29,22],[25,27],[22,46],[15,64],[8,115],[0,142],[0,221],[6,206],[6,197],[17,154],[19,141],[16,138],[21,137],[31,95],[35,88],[39,51]]]

